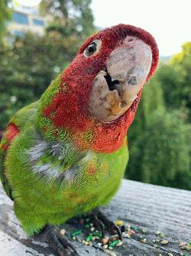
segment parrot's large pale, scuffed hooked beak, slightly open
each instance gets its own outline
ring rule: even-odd
[[[125,113],[144,87],[151,62],[150,46],[139,38],[127,36],[93,80],[89,96],[92,117],[110,123]]]

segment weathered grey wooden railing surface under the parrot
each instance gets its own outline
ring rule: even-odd
[[[121,247],[115,247],[113,251],[116,255],[191,255],[190,251],[182,250],[178,246],[181,241],[191,242],[191,192],[123,180],[118,194],[102,209],[113,221],[122,220],[125,224],[139,228],[131,239],[124,238]],[[66,235],[75,230],[73,225],[67,224],[63,227],[66,228]],[[146,234],[141,232],[141,228],[144,227],[147,227]],[[162,239],[154,233],[157,230],[166,235],[165,239],[169,241],[167,245],[160,244]],[[145,243],[141,242],[141,238],[146,238]],[[154,243],[154,239],[158,239],[159,242]],[[154,248],[154,244],[158,247]],[[73,241],[73,245],[80,256],[108,254],[96,245],[90,247],[79,241]],[[12,202],[1,186],[0,255],[54,255],[44,241],[43,235],[28,238],[24,234],[13,212]]]

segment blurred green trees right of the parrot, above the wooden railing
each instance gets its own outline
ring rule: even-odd
[[[191,190],[191,42],[145,86],[128,131],[129,179]]]

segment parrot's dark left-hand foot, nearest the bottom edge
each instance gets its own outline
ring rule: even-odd
[[[46,232],[47,243],[58,256],[71,256],[70,250],[73,250],[78,255],[70,241],[60,234],[60,228],[47,225],[44,231]]]

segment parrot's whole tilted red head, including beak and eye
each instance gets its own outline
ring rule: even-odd
[[[91,132],[89,145],[112,152],[131,125],[157,62],[157,44],[147,31],[131,25],[99,31],[61,74],[60,90],[44,108],[44,116],[76,134],[81,144]]]

